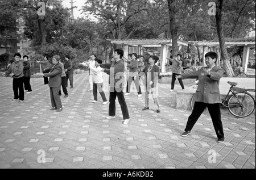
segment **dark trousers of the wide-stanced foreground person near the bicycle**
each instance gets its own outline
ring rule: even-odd
[[[195,102],[192,114],[188,117],[188,122],[185,128],[185,131],[191,131],[193,126],[196,124],[197,120],[205,110],[208,108],[210,118],[212,118],[213,127],[215,129],[216,135],[218,139],[224,137],[223,126],[221,122],[221,112],[220,112],[220,104],[208,104],[203,102]]]

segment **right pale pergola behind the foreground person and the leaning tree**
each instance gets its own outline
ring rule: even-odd
[[[209,51],[209,47],[220,47],[220,43],[218,41],[189,41],[192,45],[198,45],[199,47],[203,47],[203,66],[205,65],[204,55]],[[251,47],[255,47],[254,41],[226,41],[226,47],[243,47],[243,72],[247,72],[247,65],[249,60],[249,52]]]

